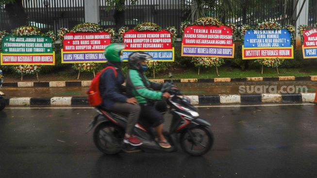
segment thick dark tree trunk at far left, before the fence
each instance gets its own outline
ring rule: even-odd
[[[5,10],[8,12],[12,30],[27,24],[27,15],[24,11],[22,0],[16,0],[13,3],[5,4]]]

